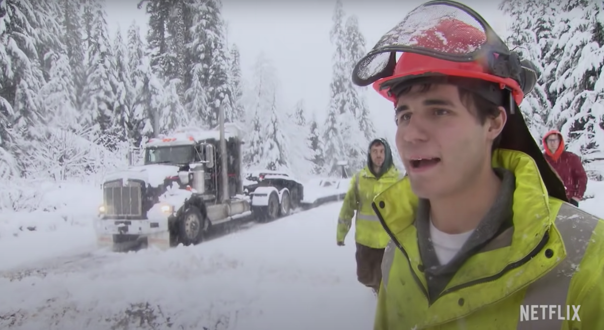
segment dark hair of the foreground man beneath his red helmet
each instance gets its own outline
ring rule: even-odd
[[[418,79],[419,80],[419,79]],[[420,86],[419,88],[419,92],[423,93],[423,92],[427,92],[429,91],[432,86],[434,85],[442,85],[442,84],[451,84],[451,85],[456,85],[458,90],[459,90],[459,98],[461,100],[461,104],[463,104],[464,106],[466,106],[466,108],[468,109],[468,111],[474,115],[474,117],[478,120],[478,123],[480,123],[481,125],[484,125],[484,123],[486,123],[487,118],[496,118],[498,116],[500,116],[500,110],[499,107],[503,106],[505,103],[505,97],[504,95],[506,94],[506,92],[501,91],[501,89],[495,88],[494,83],[489,83],[489,82],[484,82],[484,80],[480,81],[480,86],[478,89],[487,89],[488,92],[490,93],[490,99],[500,99],[501,102],[499,102],[499,104],[487,100],[485,97],[483,97],[483,95],[481,95],[480,92],[476,91],[476,86],[477,86],[477,82],[475,82],[475,79],[464,79],[464,78],[457,78],[457,79],[451,79],[449,77],[430,77],[429,79],[421,79],[421,80],[412,80],[406,83],[403,83],[399,86],[396,86],[393,91],[393,94],[396,95],[396,97],[400,97],[401,95],[405,95],[408,92],[411,91],[411,89],[414,86]],[[489,86],[491,85],[491,86]],[[501,96],[498,97],[495,95],[495,97],[493,97],[493,92],[497,92],[497,91],[501,91],[500,94]],[[392,91],[392,89],[391,89]],[[474,105],[474,107],[472,107],[472,105]],[[472,111],[471,109],[475,108],[476,109],[476,113],[474,113],[474,111]],[[501,142],[501,133],[499,135],[497,135],[497,137],[495,138],[495,140],[493,140],[493,144],[491,146],[491,152],[495,151],[495,149],[497,149],[500,145]]]

